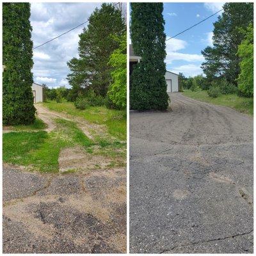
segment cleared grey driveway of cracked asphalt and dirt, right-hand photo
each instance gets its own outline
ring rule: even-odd
[[[130,252],[253,253],[253,118],[170,98],[130,113]]]

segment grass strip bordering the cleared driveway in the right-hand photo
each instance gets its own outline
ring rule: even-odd
[[[217,98],[211,98],[206,91],[192,92],[191,90],[184,90],[183,94],[195,100],[227,106],[242,113],[253,115],[253,98],[239,97],[236,94],[220,95]]]

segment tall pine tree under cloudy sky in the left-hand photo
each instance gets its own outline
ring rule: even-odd
[[[89,87],[99,95],[106,95],[112,70],[109,57],[119,46],[113,36],[124,32],[125,21],[113,4],[103,3],[92,13],[87,28],[79,35],[79,58],[67,63],[71,70],[67,79],[77,96]]]

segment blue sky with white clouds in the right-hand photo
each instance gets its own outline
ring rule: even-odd
[[[223,3],[164,3],[166,37],[193,26],[200,20],[221,10]],[[219,14],[219,13],[218,13]],[[166,69],[185,76],[202,74],[200,68],[204,58],[201,51],[212,45],[213,22],[218,15],[202,22],[166,42]]]

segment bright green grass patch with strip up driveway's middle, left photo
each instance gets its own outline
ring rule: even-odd
[[[74,122],[56,119],[52,132],[8,132],[3,134],[4,163],[28,166],[40,172],[58,172],[58,157],[65,147],[90,147],[92,141]]]

